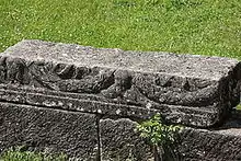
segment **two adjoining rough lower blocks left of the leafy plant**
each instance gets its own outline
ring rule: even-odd
[[[0,103],[0,116],[1,151],[25,146],[80,160],[147,160],[151,156],[150,147],[134,131],[136,123],[128,118],[14,103]]]

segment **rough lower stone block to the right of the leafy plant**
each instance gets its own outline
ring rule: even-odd
[[[185,129],[177,151],[183,161],[240,161],[240,134],[241,129]]]

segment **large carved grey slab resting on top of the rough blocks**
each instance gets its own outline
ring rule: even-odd
[[[103,114],[106,106],[118,106],[124,114],[138,108],[135,116],[140,108],[144,114],[139,116],[158,111],[171,123],[199,127],[221,123],[239,103],[240,73],[241,64],[228,58],[96,49],[41,41],[23,41],[1,54],[0,59],[2,84],[45,89],[51,91],[48,96],[53,91],[69,99],[77,95],[89,102],[87,108],[95,113]],[[38,103],[35,101],[30,104]],[[104,107],[91,106],[93,102]],[[119,111],[111,115],[122,115]]]

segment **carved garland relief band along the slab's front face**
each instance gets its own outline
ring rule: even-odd
[[[20,58],[0,59],[1,83],[96,94],[116,103],[146,106],[207,106],[218,101],[216,84],[165,74],[88,68]]]

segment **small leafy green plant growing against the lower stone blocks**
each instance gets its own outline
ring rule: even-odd
[[[164,149],[175,142],[181,126],[165,125],[160,114],[137,125],[137,131],[152,146],[154,161],[161,161]]]

